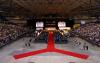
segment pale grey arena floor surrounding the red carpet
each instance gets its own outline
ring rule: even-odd
[[[32,43],[31,47],[25,47],[25,43],[29,42],[29,39],[30,37],[22,38],[0,49],[0,63],[100,63],[99,60],[100,47],[93,46],[87,43],[85,40],[82,40],[77,37],[69,38],[68,44],[55,44],[55,47],[62,50],[88,54],[90,56],[87,60],[72,57],[69,55],[63,55],[60,53],[54,53],[54,52],[52,53],[47,52],[47,53],[15,60],[13,58],[13,55],[15,54],[20,54],[29,51],[36,51],[47,47],[47,44],[43,44],[43,43],[42,44]],[[77,40],[82,44],[86,42],[87,45],[89,46],[89,50],[88,51],[82,50],[82,44],[80,46],[73,46],[75,43],[74,40]]]

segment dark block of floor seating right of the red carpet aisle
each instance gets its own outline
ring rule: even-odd
[[[67,38],[62,36],[60,32],[54,32],[54,41],[55,43],[67,43]]]

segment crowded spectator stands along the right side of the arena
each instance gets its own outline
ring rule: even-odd
[[[92,44],[100,46],[100,24],[89,23],[72,31],[73,35],[79,35]]]

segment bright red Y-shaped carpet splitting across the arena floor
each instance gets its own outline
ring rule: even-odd
[[[37,54],[41,54],[41,53],[46,53],[46,52],[57,52],[57,53],[70,55],[70,56],[74,56],[74,57],[81,58],[81,59],[87,59],[89,57],[88,55],[84,55],[84,54],[79,54],[79,53],[75,53],[75,52],[56,49],[54,47],[53,32],[49,32],[48,46],[46,49],[28,52],[28,53],[23,53],[23,54],[19,54],[19,55],[14,55],[14,58],[20,59],[20,58],[24,58],[24,57],[28,57],[28,56],[32,56],[32,55],[37,55]]]

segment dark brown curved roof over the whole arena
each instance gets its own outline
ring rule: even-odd
[[[100,15],[99,0],[0,0],[0,13],[7,16]]]

